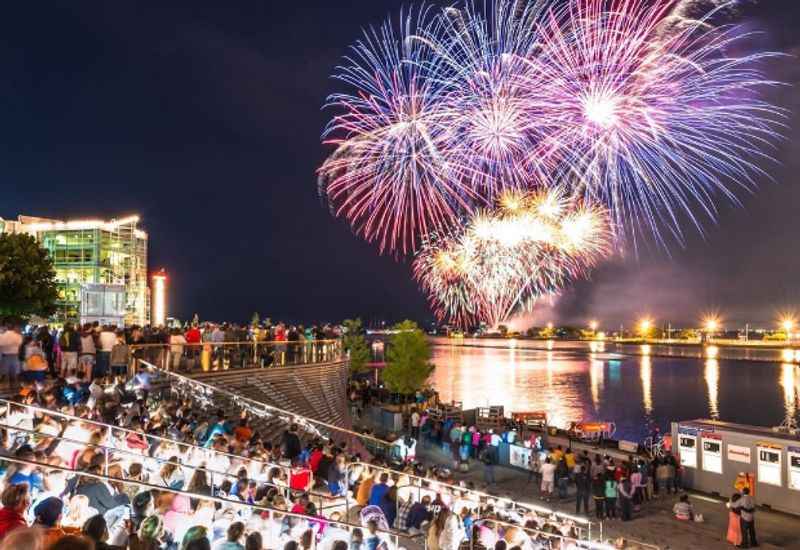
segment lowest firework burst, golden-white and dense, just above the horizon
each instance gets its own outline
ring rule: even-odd
[[[414,276],[440,320],[497,326],[587,274],[611,242],[605,209],[569,199],[564,188],[507,191],[458,237],[427,243]]]

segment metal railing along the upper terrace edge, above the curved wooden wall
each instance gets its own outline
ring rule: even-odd
[[[142,360],[164,370],[187,372],[313,365],[344,357],[338,339],[132,344],[129,349],[132,367]]]

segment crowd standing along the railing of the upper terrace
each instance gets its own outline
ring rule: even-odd
[[[27,327],[18,323],[0,324],[0,380],[11,386],[19,380],[42,381],[80,375],[84,380],[127,372],[131,358],[165,365],[173,370],[199,368],[203,346],[210,351],[209,361],[229,366],[244,366],[253,361],[252,351],[244,346],[226,347],[223,343],[271,342],[255,359],[260,366],[307,362],[318,350],[312,344],[339,338],[341,327],[319,325],[303,327],[282,322],[258,326],[222,323],[195,323],[185,329],[166,327],[118,328],[90,323],[62,329],[48,326]]]

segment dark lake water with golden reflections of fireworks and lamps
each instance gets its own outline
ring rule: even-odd
[[[547,411],[560,427],[613,421],[615,437],[633,441],[678,420],[777,426],[798,418],[800,367],[788,363],[451,344],[434,345],[433,361],[431,382],[443,401],[504,405],[506,416]]]

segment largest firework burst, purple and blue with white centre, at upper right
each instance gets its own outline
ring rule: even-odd
[[[706,20],[674,23],[672,2],[579,0],[537,27],[537,84],[549,83],[550,131],[533,158],[580,182],[635,238],[682,219],[702,231],[716,199],[752,189],[754,162],[784,113],[759,99],[756,69],[774,54],[732,55],[746,35]],[[662,241],[663,242],[663,241]]]

